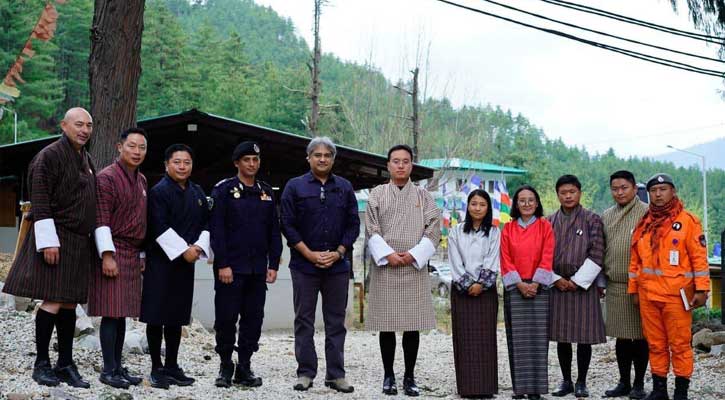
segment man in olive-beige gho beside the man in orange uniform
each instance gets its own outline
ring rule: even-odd
[[[619,382],[604,392],[605,397],[629,396],[643,399],[644,374],[649,362],[647,341],[642,334],[639,307],[627,294],[632,232],[647,212],[647,204],[637,197],[637,181],[629,171],[617,171],[609,178],[614,206],[602,213],[604,223],[604,273],[607,277],[607,336],[617,338],[615,345]],[[634,382],[631,380],[634,364]]]

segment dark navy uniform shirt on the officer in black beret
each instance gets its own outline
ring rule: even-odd
[[[231,267],[237,274],[279,269],[282,237],[272,187],[262,181],[245,186],[233,177],[217,183],[211,196],[214,268]]]

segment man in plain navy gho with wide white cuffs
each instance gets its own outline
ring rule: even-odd
[[[194,264],[208,259],[209,205],[204,190],[189,177],[194,151],[172,144],[164,153],[166,174],[149,191],[146,269],[143,273],[141,316],[151,355],[149,383],[156,388],[189,386],[194,378],[179,367],[181,327],[191,323]],[[161,342],[166,342],[166,363]]]

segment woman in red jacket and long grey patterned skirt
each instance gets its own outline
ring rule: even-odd
[[[516,190],[512,221],[501,236],[506,341],[514,399],[540,399],[548,393],[549,290],[554,233],[543,218],[536,189]]]

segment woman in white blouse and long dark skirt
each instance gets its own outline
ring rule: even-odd
[[[448,236],[453,276],[453,359],[461,397],[492,398],[498,392],[499,240],[491,197],[484,190],[472,191],[465,222],[456,225]]]

